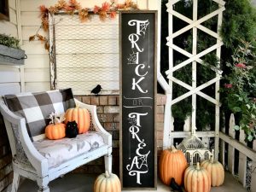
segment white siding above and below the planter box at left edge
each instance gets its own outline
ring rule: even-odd
[[[9,21],[0,22],[0,33],[18,37],[15,0],[9,0]],[[0,61],[0,96],[20,92],[20,67],[1,64]]]

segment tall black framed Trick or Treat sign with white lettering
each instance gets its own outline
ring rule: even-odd
[[[156,11],[119,14],[120,178],[123,189],[156,187]]]

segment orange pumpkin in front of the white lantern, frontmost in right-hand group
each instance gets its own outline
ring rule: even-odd
[[[211,176],[207,170],[197,163],[189,166],[184,176],[185,189],[188,192],[209,192],[211,190]]]

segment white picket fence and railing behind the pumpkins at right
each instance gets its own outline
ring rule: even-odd
[[[172,118],[172,127],[174,120]],[[226,135],[223,128],[218,135],[215,131],[196,131],[196,136],[200,137],[202,142],[210,147],[210,138],[219,137],[219,161],[224,165],[234,177],[236,177],[244,188],[251,188],[251,192],[256,192],[256,141],[253,142],[253,148],[248,148],[244,142],[244,131],[240,132],[240,141],[235,139],[236,132],[234,130],[235,117],[230,115],[229,135]],[[185,138],[191,136],[191,119],[188,118],[184,122],[183,131],[172,131],[171,143],[175,143],[175,138]],[[210,149],[210,148],[209,148]],[[235,173],[235,149],[239,151],[238,173]],[[211,149],[210,149],[211,150]]]

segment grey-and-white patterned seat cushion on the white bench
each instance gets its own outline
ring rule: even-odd
[[[48,159],[49,167],[59,166],[61,163],[71,160],[79,154],[84,154],[104,145],[100,134],[89,131],[75,138],[62,138],[49,140],[44,138],[33,142],[39,153]]]

